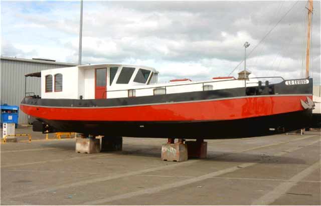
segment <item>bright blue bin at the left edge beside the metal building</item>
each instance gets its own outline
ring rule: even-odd
[[[19,106],[2,104],[1,107],[1,126],[3,123],[15,123],[18,126]]]

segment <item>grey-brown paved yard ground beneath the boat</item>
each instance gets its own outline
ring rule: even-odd
[[[209,157],[186,162],[161,161],[165,142],[98,154],[74,139],[2,143],[1,204],[321,204],[319,132],[208,140]]]

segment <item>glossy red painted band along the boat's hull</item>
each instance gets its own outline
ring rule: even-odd
[[[23,112],[36,118],[71,121],[216,121],[235,120],[302,111],[300,100],[312,96],[256,96],[224,100],[158,105],[73,108],[22,104]]]

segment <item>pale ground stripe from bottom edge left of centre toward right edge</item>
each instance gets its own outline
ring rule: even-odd
[[[313,142],[311,142],[309,144],[306,144],[305,146],[312,145],[312,144],[314,144],[316,142],[319,142],[319,141],[320,140],[318,139],[318,140],[313,141]],[[295,151],[295,150],[298,150],[298,149],[302,149],[302,147],[296,147],[295,149],[292,148],[292,149],[289,149],[289,151]],[[282,151],[282,152],[278,152],[278,153],[274,154],[274,156],[282,156],[282,155],[287,154],[287,153],[288,152]],[[165,184],[165,185],[161,185],[161,186],[157,186],[157,187],[153,187],[153,188],[142,189],[142,190],[129,192],[129,193],[125,193],[125,194],[119,194],[119,195],[106,197],[106,198],[102,198],[102,199],[97,199],[97,200],[93,200],[93,201],[86,201],[86,202],[84,202],[82,204],[84,204],[84,205],[102,204],[102,203],[106,203],[106,202],[110,202],[110,201],[115,201],[115,200],[119,200],[119,199],[126,199],[126,198],[139,196],[139,195],[143,195],[143,194],[153,194],[153,193],[160,192],[162,190],[172,189],[172,188],[175,188],[175,187],[181,187],[181,186],[184,186],[184,185],[187,185],[187,184],[192,184],[192,183],[195,183],[195,182],[203,181],[205,179],[209,179],[209,178],[212,178],[212,177],[215,177],[215,176],[219,176],[219,175],[222,175],[222,174],[226,174],[226,173],[229,173],[229,172],[234,172],[234,171],[237,171],[239,169],[242,169],[242,168],[245,168],[245,167],[249,167],[249,166],[252,166],[252,165],[255,165],[255,164],[258,164],[258,163],[260,163],[260,162],[243,163],[243,164],[240,164],[238,166],[229,167],[229,168],[222,169],[222,170],[219,170],[219,171],[215,171],[215,172],[211,172],[211,173],[208,173],[208,174],[204,174],[204,175],[201,175],[201,176],[198,176],[198,177],[193,177],[193,178],[190,178],[190,179],[181,180],[181,181],[177,181],[177,182],[174,182],[174,183],[169,183],[169,184]],[[315,168],[315,166],[313,166],[313,169],[314,168]]]

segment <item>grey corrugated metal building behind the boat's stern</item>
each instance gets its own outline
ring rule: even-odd
[[[40,72],[46,69],[72,67],[77,64],[56,62],[43,59],[23,59],[1,57],[1,104],[20,105],[25,97],[25,74]],[[26,79],[26,92],[41,94],[40,78],[28,77]],[[19,112],[19,124],[27,124],[28,116]]]

